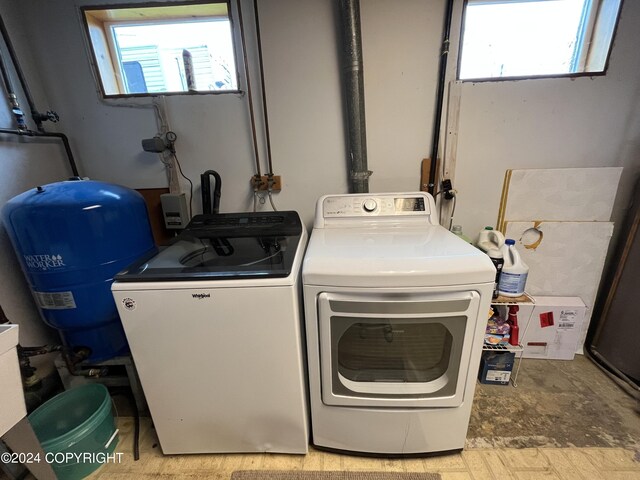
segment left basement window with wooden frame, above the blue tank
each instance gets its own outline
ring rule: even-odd
[[[238,91],[228,2],[81,11],[104,97]]]

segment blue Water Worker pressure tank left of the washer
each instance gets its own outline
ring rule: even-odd
[[[113,276],[155,251],[147,208],[129,188],[91,180],[37,187],[2,219],[45,323],[89,360],[128,352],[111,295]]]

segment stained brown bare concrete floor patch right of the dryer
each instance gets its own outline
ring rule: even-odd
[[[640,447],[637,401],[589,359],[524,359],[518,387],[478,384],[468,447]]]

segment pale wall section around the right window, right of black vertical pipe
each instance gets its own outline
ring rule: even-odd
[[[507,169],[612,166],[621,221],[640,171],[639,23],[640,2],[624,2],[605,76],[463,84],[454,223],[495,225]]]

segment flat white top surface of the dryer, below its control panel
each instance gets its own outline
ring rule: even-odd
[[[440,225],[314,229],[302,267],[307,285],[447,286],[489,283],[487,255]]]

